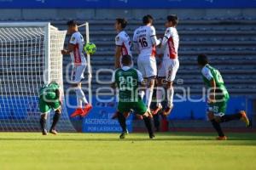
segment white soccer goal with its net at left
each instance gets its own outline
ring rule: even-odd
[[[38,91],[58,82],[63,91],[62,55],[66,31],[49,23],[0,23],[0,131],[39,131]],[[64,95],[57,129],[74,131]],[[53,114],[49,114],[48,124]]]

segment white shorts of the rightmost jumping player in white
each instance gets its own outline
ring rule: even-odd
[[[166,77],[167,82],[173,82],[179,67],[178,59],[163,59],[158,71],[158,77]]]

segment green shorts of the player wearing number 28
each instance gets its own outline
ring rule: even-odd
[[[118,110],[121,113],[130,112],[131,109],[138,115],[143,115],[147,111],[147,107],[142,99],[138,99],[137,102],[119,102]]]

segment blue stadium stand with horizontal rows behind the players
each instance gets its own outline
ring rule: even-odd
[[[66,21],[66,20],[65,20]],[[54,24],[65,29],[65,21]],[[80,20],[80,22],[82,22]],[[89,20],[90,42],[95,42],[97,52],[91,58],[93,68],[94,91],[102,84],[97,84],[96,70],[100,68],[113,69],[114,20]],[[165,31],[165,20],[155,20],[154,26],[159,37]],[[141,21],[130,19],[127,31],[132,37],[133,31],[140,26]],[[218,68],[224,77],[225,84],[232,95],[256,95],[256,20],[238,18],[203,18],[180,20],[177,30],[180,36],[179,59],[180,69],[177,80],[183,79],[183,86],[191,88],[191,94],[201,94],[201,76],[196,65],[196,56],[200,53],[208,54],[212,65]],[[84,32],[84,30],[81,30]],[[134,53],[134,61],[137,54]],[[70,62],[64,58],[64,65]],[[111,75],[103,73],[100,79],[109,81]],[[105,85],[108,87],[108,85]]]

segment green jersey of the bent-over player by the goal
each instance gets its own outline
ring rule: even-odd
[[[39,90],[40,99],[58,99],[59,96],[56,94],[56,90],[60,86],[56,82],[50,82],[48,85],[44,85]]]

